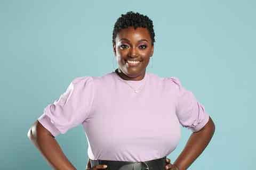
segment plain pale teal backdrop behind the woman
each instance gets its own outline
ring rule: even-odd
[[[114,23],[131,10],[154,23],[147,71],[178,77],[215,123],[212,141],[189,169],[254,169],[255,8],[255,1],[0,1],[0,169],[51,169],[28,129],[72,79],[114,70]],[[171,162],[190,134],[182,128]],[[56,139],[85,169],[82,126]]]

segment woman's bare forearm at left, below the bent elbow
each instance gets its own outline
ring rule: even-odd
[[[29,139],[54,169],[76,169],[62,152],[58,142],[50,135],[40,134],[37,135],[37,137],[35,137],[35,135],[30,135]]]

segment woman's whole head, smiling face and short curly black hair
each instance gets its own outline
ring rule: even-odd
[[[122,24],[121,24],[122,23]],[[154,53],[155,32],[148,16],[127,12],[115,23],[113,49],[119,75],[125,80],[142,80]]]

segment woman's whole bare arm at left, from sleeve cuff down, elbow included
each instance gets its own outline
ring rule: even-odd
[[[38,120],[29,129],[28,138],[54,169],[76,169],[63,154],[53,135]]]

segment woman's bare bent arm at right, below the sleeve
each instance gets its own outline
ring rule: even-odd
[[[215,125],[210,117],[202,130],[190,135],[185,148],[173,164],[179,167],[180,170],[187,169],[206,148],[214,131]]]

